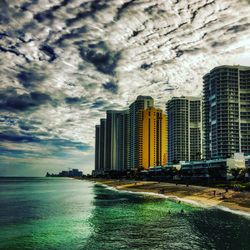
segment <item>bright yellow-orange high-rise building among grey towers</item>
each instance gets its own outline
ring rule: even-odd
[[[139,112],[139,168],[164,166],[167,162],[167,119],[161,109]]]

